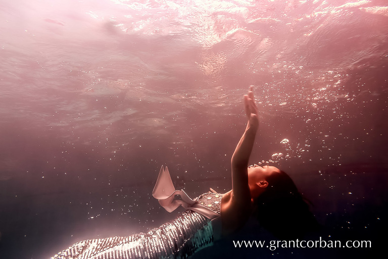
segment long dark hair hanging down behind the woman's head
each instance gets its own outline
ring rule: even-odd
[[[266,190],[254,200],[254,214],[260,225],[284,240],[303,238],[317,231],[319,224],[294,181],[283,171],[272,174]]]

